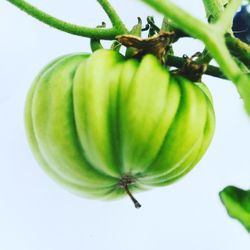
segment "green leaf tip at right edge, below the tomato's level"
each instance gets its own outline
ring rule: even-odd
[[[220,192],[228,214],[239,220],[250,233],[250,190],[228,186]]]

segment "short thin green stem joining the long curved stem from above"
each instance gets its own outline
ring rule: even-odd
[[[128,33],[128,30],[118,14],[116,13],[115,9],[111,6],[111,4],[107,0],[97,0],[97,2],[102,6],[103,10],[108,15],[113,27],[120,30],[122,34]]]

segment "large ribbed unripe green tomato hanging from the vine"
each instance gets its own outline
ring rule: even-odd
[[[35,79],[25,122],[40,165],[73,192],[114,199],[188,173],[214,132],[211,95],[152,55],[61,57]]]

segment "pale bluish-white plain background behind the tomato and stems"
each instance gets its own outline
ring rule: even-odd
[[[108,23],[93,0],[30,2],[74,23]],[[128,27],[137,16],[157,16],[140,1],[111,2]],[[202,1],[175,2],[205,19]],[[179,55],[192,55],[203,47],[184,39],[175,48]],[[249,250],[249,234],[227,216],[218,197],[227,185],[250,187],[250,120],[228,81],[204,77],[217,115],[205,157],[176,184],[137,194],[140,210],[128,198],[79,198],[44,174],[25,137],[26,93],[51,59],[77,51],[90,51],[89,40],[57,31],[0,2],[0,249]]]

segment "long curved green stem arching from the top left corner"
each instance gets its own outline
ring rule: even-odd
[[[71,24],[63,20],[60,20],[58,18],[55,18],[39,10],[38,8],[27,3],[24,0],[7,0],[7,1],[12,3],[13,5],[18,7],[22,11],[26,12],[27,14],[31,15],[32,17],[40,20],[41,22],[46,23],[51,27],[54,27],[56,29],[59,29],[61,31],[64,31],[73,35],[90,37],[94,39],[112,40],[115,38],[115,36],[124,34],[125,32],[124,27],[122,25],[120,25],[119,27],[113,27],[110,29],[89,28],[89,27],[79,26],[79,25]],[[114,17],[114,12],[112,12],[111,16],[112,18]],[[116,22],[118,22],[118,20]]]

